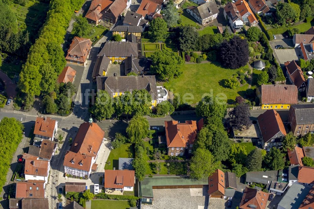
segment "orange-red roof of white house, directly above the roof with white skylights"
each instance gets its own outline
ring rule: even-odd
[[[47,176],[49,161],[25,159],[25,175]]]

